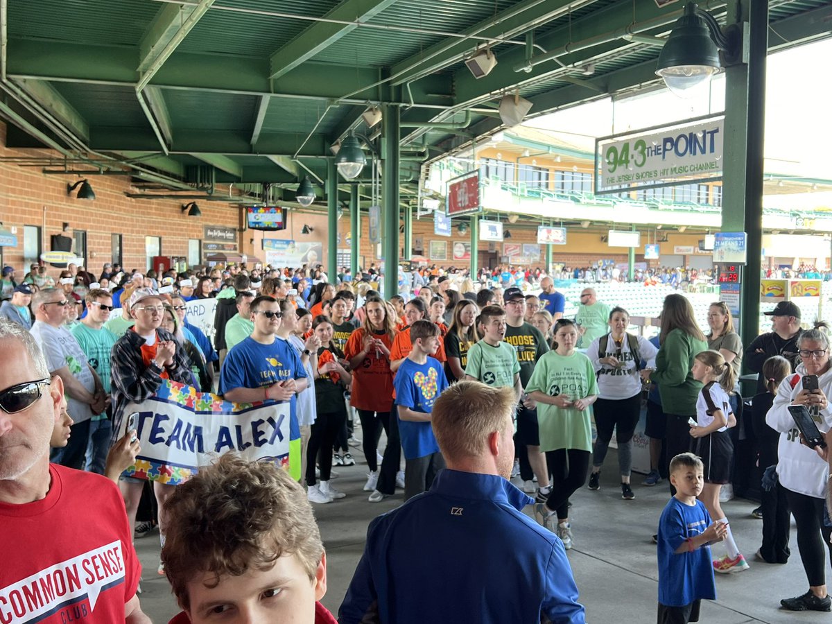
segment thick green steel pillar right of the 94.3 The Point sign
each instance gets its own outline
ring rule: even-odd
[[[763,225],[763,139],[765,135],[765,57],[768,52],[768,2],[740,0],[729,24],[748,22],[748,63],[726,68],[726,120],[722,172],[723,232],[748,236],[747,261],[740,284],[740,335],[743,344],[760,333],[760,255]]]

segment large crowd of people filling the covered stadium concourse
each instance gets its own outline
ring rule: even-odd
[[[371,523],[339,622],[466,621],[471,613],[479,622],[584,622],[565,551],[586,536],[573,526],[570,498],[601,488],[613,433],[622,499],[636,498],[632,439],[644,397],[651,471],[643,483],[667,479],[672,497],[654,536],[658,620],[695,622],[699,602],[716,597],[715,572],[750,567],[720,502],[735,469],[733,432],[745,422],[737,392],[744,358],[759,374],[745,419],[768,486],[755,560],[790,557],[793,514],[809,591],[781,606],[830,611],[829,458],[801,438],[789,409],[806,406],[826,435],[830,344],[824,328],[801,329],[793,303],[767,313],[772,331],[744,349],[722,302],[711,305],[705,334],[690,301],[667,295],[660,332],[648,340],[627,331],[623,305],[599,301],[590,285],[568,319],[552,276],[511,267],[484,283],[480,275],[478,287],[464,274],[425,270],[412,296],[386,300],[374,266],[331,281],[319,266],[158,275],[107,264],[96,280],[70,265],[57,282],[44,275],[32,267],[17,283],[3,270],[0,545],[18,556],[0,570],[2,622],[50,609],[45,622],[67,614],[83,622],[92,612],[87,621],[148,622],[131,542],[154,524],[158,571],[183,610],[173,622],[209,622],[226,610],[247,621],[297,612],[302,622],[334,622],[317,602],[326,558],[310,505],[346,496],[332,483],[333,466],[354,465],[359,447],[368,503],[401,488],[406,504]],[[537,294],[521,287],[530,278]],[[216,304],[210,329],[187,314],[189,302],[206,299]],[[235,404],[290,405],[290,428],[299,431],[290,471],[228,453],[181,485],[155,481],[155,505],[142,503],[148,482],[122,474],[141,452],[127,407],[166,380]],[[508,481],[515,476],[520,488]],[[482,513],[463,513],[471,501],[483,502]],[[61,522],[67,516],[88,527],[82,539]],[[38,527],[49,527],[48,543]],[[478,547],[483,539],[488,551]],[[68,542],[77,544],[75,560],[66,558]],[[716,542],[724,554],[712,555]],[[450,551],[475,562],[461,585],[432,573]],[[91,589],[67,607],[60,592],[32,593],[59,582],[56,571],[69,578],[76,564],[97,571],[87,586],[100,596]],[[253,589],[287,578],[304,586],[291,600],[272,605],[278,590],[266,599]],[[503,600],[507,582],[522,601]],[[503,591],[484,589],[498,585]]]

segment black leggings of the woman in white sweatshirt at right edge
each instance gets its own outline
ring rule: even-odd
[[[789,502],[790,512],[795,516],[797,548],[800,551],[800,561],[803,562],[809,585],[810,587],[825,585],[824,544],[832,562],[832,544],[830,544],[832,527],[824,525],[825,500],[792,492],[789,488],[785,488],[785,498]]]

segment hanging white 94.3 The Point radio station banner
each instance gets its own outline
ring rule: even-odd
[[[710,116],[597,139],[596,195],[721,176],[724,121]]]

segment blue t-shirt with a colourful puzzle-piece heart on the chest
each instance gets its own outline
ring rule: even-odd
[[[448,380],[438,359],[428,357],[425,364],[416,364],[405,358],[393,381],[396,389],[396,405],[430,414],[433,403],[448,388]],[[397,416],[398,418],[398,416]],[[427,421],[417,423],[399,418],[399,435],[405,459],[425,457],[438,453],[439,445],[433,437],[433,428]]]

